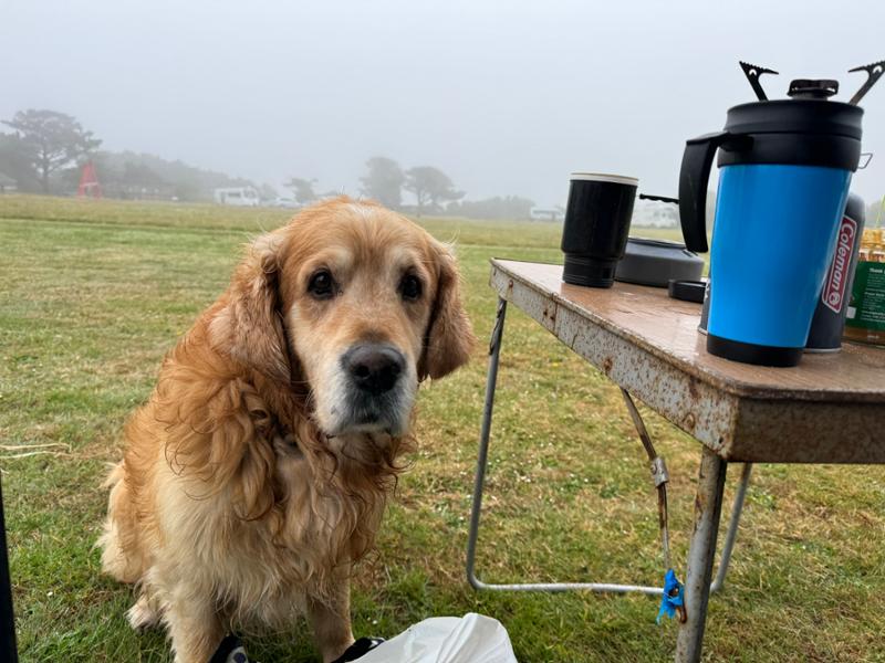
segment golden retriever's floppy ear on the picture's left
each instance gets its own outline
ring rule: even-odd
[[[289,348],[280,313],[282,235],[260,235],[247,250],[223,305],[209,323],[212,347],[281,382],[291,379]]]

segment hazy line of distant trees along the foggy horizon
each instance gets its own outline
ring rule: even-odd
[[[0,185],[12,180],[24,192],[70,194],[76,191],[84,164],[92,161],[104,196],[124,199],[209,201],[215,189],[252,187],[259,197],[275,202],[267,185],[223,172],[204,170],[179,160],[148,154],[101,150],[102,140],[76,118],[48,109],[19,110],[0,119],[11,133],[0,131]],[[360,193],[404,212],[452,214],[481,219],[528,219],[534,203],[518,196],[466,200],[451,178],[433,166],[403,169],[394,159],[373,157],[360,178]],[[340,191],[316,191],[316,179],[293,177],[285,182],[294,203],[308,204]],[[404,203],[404,192],[414,203]]]

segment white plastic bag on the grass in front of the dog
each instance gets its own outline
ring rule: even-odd
[[[501,622],[468,612],[413,624],[360,663],[517,663],[517,657]]]

